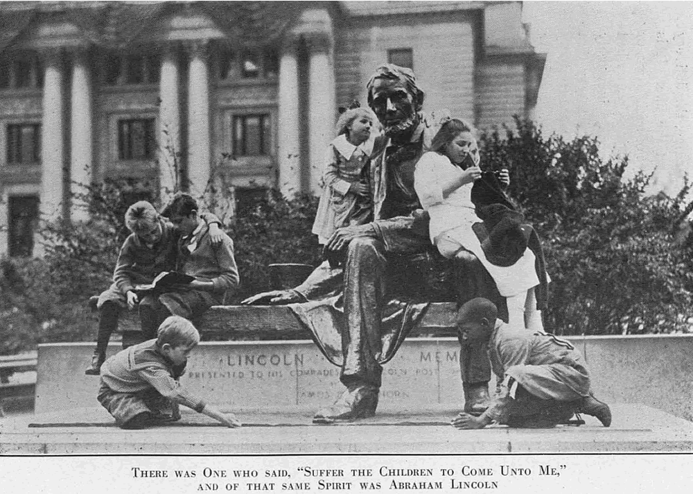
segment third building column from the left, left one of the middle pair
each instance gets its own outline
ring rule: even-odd
[[[174,45],[164,46],[159,77],[159,189],[166,204],[179,185],[180,102],[179,60]]]

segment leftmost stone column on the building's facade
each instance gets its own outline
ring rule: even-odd
[[[44,67],[40,211],[42,219],[54,220],[62,216],[63,200],[62,53],[58,50],[46,51]]]

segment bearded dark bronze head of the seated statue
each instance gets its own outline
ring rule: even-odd
[[[388,137],[408,135],[421,121],[423,91],[412,69],[392,64],[378,67],[366,89],[368,105]]]

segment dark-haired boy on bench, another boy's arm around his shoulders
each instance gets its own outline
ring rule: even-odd
[[[154,334],[171,314],[196,321],[212,305],[221,305],[230,289],[238,286],[234,242],[228,235],[214,245],[209,226],[198,214],[198,203],[188,194],[176,194],[163,214],[180,232],[176,271],[195,278],[164,293],[145,296],[139,306],[142,332]]]

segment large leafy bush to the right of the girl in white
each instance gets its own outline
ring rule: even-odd
[[[509,194],[543,239],[552,277],[547,327],[564,334],[690,331],[693,248],[675,232],[690,185],[645,194],[628,160],[599,156],[595,137],[545,137],[531,121],[482,137],[482,163],[508,168]]]

